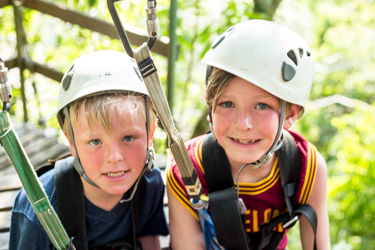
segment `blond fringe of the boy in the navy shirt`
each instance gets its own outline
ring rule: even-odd
[[[129,103],[124,103],[126,101]],[[135,92],[125,93],[112,93],[112,94],[101,94],[98,96],[86,97],[80,99],[69,106],[69,118],[71,120],[72,127],[76,126],[79,120],[79,114],[81,107],[84,106],[84,114],[86,117],[86,124],[89,129],[92,128],[93,121],[98,122],[99,125],[108,132],[112,129],[111,118],[112,115],[117,115],[117,118],[122,121],[125,119],[129,122],[129,117],[125,117],[125,112],[130,113],[130,119],[137,120],[142,119],[146,122],[146,104],[144,95]],[[156,110],[152,102],[150,102],[150,124],[148,127],[149,137],[152,135],[156,128]],[[66,117],[63,124],[63,132],[71,138],[71,134],[68,127]]]

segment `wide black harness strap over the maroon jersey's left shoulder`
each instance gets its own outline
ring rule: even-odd
[[[249,249],[229,161],[212,133],[203,139],[202,164],[217,241],[229,249]]]

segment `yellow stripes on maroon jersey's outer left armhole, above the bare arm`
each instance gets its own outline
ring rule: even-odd
[[[189,211],[195,219],[199,220],[198,215],[193,210],[193,208],[190,205],[190,201],[186,198],[184,190],[181,188],[180,185],[178,185],[177,180],[174,178],[173,172],[172,172],[172,161],[170,156],[170,151],[166,151],[167,154],[167,165],[165,168],[166,173],[166,184],[169,190],[173,193],[173,195],[178,199],[178,201],[181,202],[181,204]]]

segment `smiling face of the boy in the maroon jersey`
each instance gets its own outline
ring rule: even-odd
[[[234,78],[212,113],[213,131],[231,165],[250,163],[267,152],[279,126],[278,98]]]

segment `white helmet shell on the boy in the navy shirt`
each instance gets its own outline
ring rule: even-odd
[[[63,108],[83,97],[105,93],[138,92],[149,95],[135,61],[119,51],[102,50],[83,55],[71,64],[60,85],[57,120],[64,123]]]

